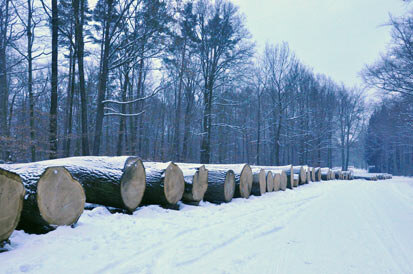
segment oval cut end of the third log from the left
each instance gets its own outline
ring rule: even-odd
[[[142,201],[146,187],[146,173],[142,161],[130,158],[125,163],[121,178],[120,192],[122,201],[129,211],[135,210]]]

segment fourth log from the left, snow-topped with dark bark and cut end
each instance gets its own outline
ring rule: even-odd
[[[176,205],[185,191],[182,170],[173,162],[144,162],[146,189],[142,204]]]

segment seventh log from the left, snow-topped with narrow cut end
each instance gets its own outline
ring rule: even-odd
[[[207,168],[209,169],[209,166]],[[252,188],[252,170],[248,164],[214,164],[213,166],[232,170],[235,174],[234,198],[248,198]]]

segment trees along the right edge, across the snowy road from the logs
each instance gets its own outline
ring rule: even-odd
[[[413,175],[413,13],[391,18],[392,42],[363,72],[365,82],[387,97],[372,114],[366,137],[371,169]]]

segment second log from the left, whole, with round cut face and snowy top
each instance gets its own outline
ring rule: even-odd
[[[26,194],[18,228],[27,232],[44,233],[56,226],[73,225],[85,206],[85,192],[79,182],[66,168],[53,167],[48,162],[9,164],[0,167],[0,184],[13,181],[17,184],[22,183],[25,188]],[[18,195],[21,195],[21,192]],[[3,212],[3,203],[1,211]],[[5,213],[10,217],[13,214]]]

